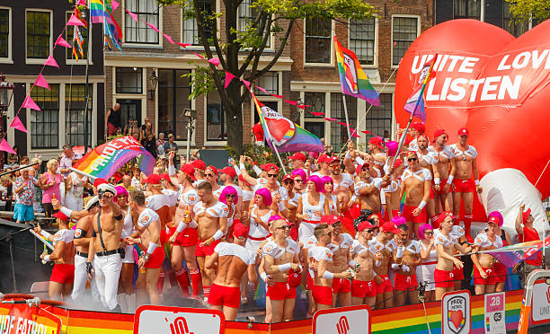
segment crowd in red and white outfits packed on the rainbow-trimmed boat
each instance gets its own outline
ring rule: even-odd
[[[476,294],[504,289],[507,268],[476,252],[537,240],[533,216],[518,208],[513,239],[497,211],[482,231],[472,229],[474,195],[483,189],[468,130],[457,135],[451,145],[445,130],[429,137],[416,123],[401,153],[396,142],[372,137],[368,152],[351,143],[341,157],[297,152],[287,174],[244,155],[221,169],[200,159],[178,166],[171,150],[149,176],[132,166],[91,182],[52,160],[40,178],[23,170],[14,192],[31,206],[25,187],[43,189],[44,208],[58,218],[55,234],[35,228],[55,244],[42,256],[56,263],[51,298],[78,302],[89,280],[105,308],[134,312],[163,303],[172,284],[182,298],[235,320],[250,303],[246,290],[265,285],[265,321],[288,321],[297,286],[309,314],[419,303],[419,295],[439,300],[472,275]],[[69,148],[64,155],[75,159]],[[63,183],[66,195],[58,193]],[[83,198],[86,187],[93,197]],[[525,270],[540,265],[538,256]]]

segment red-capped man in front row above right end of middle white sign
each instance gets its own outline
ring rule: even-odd
[[[353,282],[351,282],[351,304],[367,304],[374,309],[377,301],[377,283],[382,283],[382,278],[374,271],[374,253],[368,242],[374,236],[377,226],[371,225],[368,221],[359,223],[357,227],[359,238],[353,241],[350,253],[356,265]]]

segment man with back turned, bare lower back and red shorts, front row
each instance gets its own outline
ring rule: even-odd
[[[235,238],[235,241],[237,238]],[[241,302],[241,277],[247,272],[249,281],[256,284],[254,263],[256,254],[247,251],[237,243],[217,243],[214,251],[206,259],[206,268],[217,275],[213,280],[208,303],[211,310],[224,312],[226,320],[235,321]]]

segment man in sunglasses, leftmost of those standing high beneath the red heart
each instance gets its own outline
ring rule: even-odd
[[[418,162],[418,154],[414,151],[407,153],[407,163],[409,163],[409,168],[401,177],[403,183],[399,198],[403,198],[406,193],[403,216],[409,226],[409,239],[412,239],[412,233],[414,232],[418,236],[418,228],[421,224],[426,223],[427,216],[424,207],[430,200],[431,173],[421,167]]]

